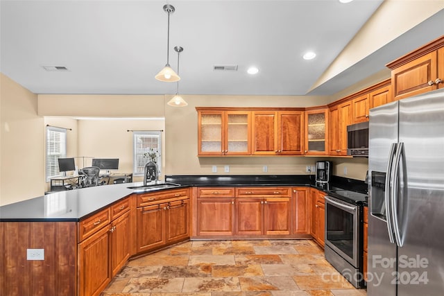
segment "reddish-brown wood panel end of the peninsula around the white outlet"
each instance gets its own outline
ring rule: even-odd
[[[44,260],[28,261],[27,249],[44,249]],[[75,222],[0,223],[0,294],[76,295]]]

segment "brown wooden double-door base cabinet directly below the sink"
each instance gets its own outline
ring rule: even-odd
[[[137,253],[189,238],[187,189],[137,195]]]

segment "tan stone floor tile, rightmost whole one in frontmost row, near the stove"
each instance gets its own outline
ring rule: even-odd
[[[296,275],[293,277],[302,290],[315,289],[353,289],[354,287],[341,275]]]

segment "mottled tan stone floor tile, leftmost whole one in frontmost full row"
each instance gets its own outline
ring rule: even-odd
[[[184,278],[156,279],[153,277],[139,277],[130,279],[123,293],[180,293]]]

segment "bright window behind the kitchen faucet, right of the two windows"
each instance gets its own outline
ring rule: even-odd
[[[144,157],[144,153],[147,153],[150,148],[158,151],[158,157],[156,160],[157,169],[162,168],[162,157],[160,152],[162,151],[161,134],[160,132],[133,132],[134,143],[134,166],[133,175],[144,175],[145,164],[149,161]]]

